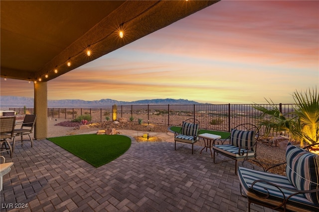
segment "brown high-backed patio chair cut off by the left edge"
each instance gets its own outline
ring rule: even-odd
[[[7,139],[12,139],[15,124],[15,116],[0,118],[0,154],[9,152],[12,157],[12,147]]]

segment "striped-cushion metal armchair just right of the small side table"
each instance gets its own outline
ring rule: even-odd
[[[237,175],[237,161],[245,158],[256,158],[257,139],[259,129],[249,123],[240,124],[231,130],[230,136],[221,142],[213,145],[214,163],[216,153],[235,160],[235,174]]]

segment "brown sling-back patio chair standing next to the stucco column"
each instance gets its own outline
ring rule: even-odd
[[[12,145],[12,151],[14,151],[15,146],[15,137],[20,136],[21,137],[21,146],[23,145],[23,141],[31,141],[31,147],[33,146],[33,140],[31,138],[31,133],[33,131],[34,123],[35,123],[36,115],[35,114],[26,114],[24,116],[23,122],[17,122],[21,123],[21,127],[18,129],[14,129],[13,131],[13,145]],[[28,135],[30,140],[23,140],[23,135]]]

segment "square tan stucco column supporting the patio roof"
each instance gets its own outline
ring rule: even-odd
[[[47,137],[47,82],[34,84],[34,113],[36,114],[34,126],[34,138],[43,139]]]

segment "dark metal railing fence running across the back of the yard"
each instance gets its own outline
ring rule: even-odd
[[[271,108],[271,105],[259,105]],[[294,110],[293,104],[276,105],[285,116]],[[23,108],[9,108],[17,114],[23,114]],[[33,108],[26,108],[33,111]],[[112,120],[112,108],[48,108],[48,117],[74,119],[79,115],[90,114],[92,121]],[[230,131],[241,123],[259,123],[261,111],[253,105],[130,105],[117,106],[117,117],[144,123],[180,126],[188,118],[196,118],[200,128],[218,131]],[[263,129],[261,129],[263,134]]]

